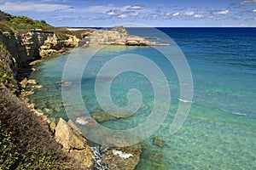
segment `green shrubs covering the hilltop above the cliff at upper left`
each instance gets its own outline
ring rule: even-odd
[[[7,31],[10,28],[12,31],[29,30],[29,29],[53,29],[54,26],[49,26],[45,20],[32,20],[26,16],[15,16],[3,13],[0,10],[0,31]]]

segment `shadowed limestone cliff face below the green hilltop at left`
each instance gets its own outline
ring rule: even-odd
[[[25,34],[0,32],[0,42],[6,45],[18,68],[25,66],[28,61],[77,47],[79,39],[68,35],[67,40],[60,40],[53,31],[29,31]]]

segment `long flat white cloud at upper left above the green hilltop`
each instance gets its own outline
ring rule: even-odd
[[[63,4],[53,3],[33,3],[33,2],[16,2],[0,4],[3,11],[37,11],[37,12],[53,12],[56,10],[72,11],[73,7]]]

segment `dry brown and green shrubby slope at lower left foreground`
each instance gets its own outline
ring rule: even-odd
[[[45,117],[15,95],[14,59],[0,42],[0,169],[84,169],[61,150]]]

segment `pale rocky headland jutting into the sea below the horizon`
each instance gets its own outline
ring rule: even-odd
[[[150,42],[144,37],[127,34],[123,26],[113,27],[110,31],[96,30],[88,37],[89,44],[128,45],[128,46],[165,46],[167,44]]]

